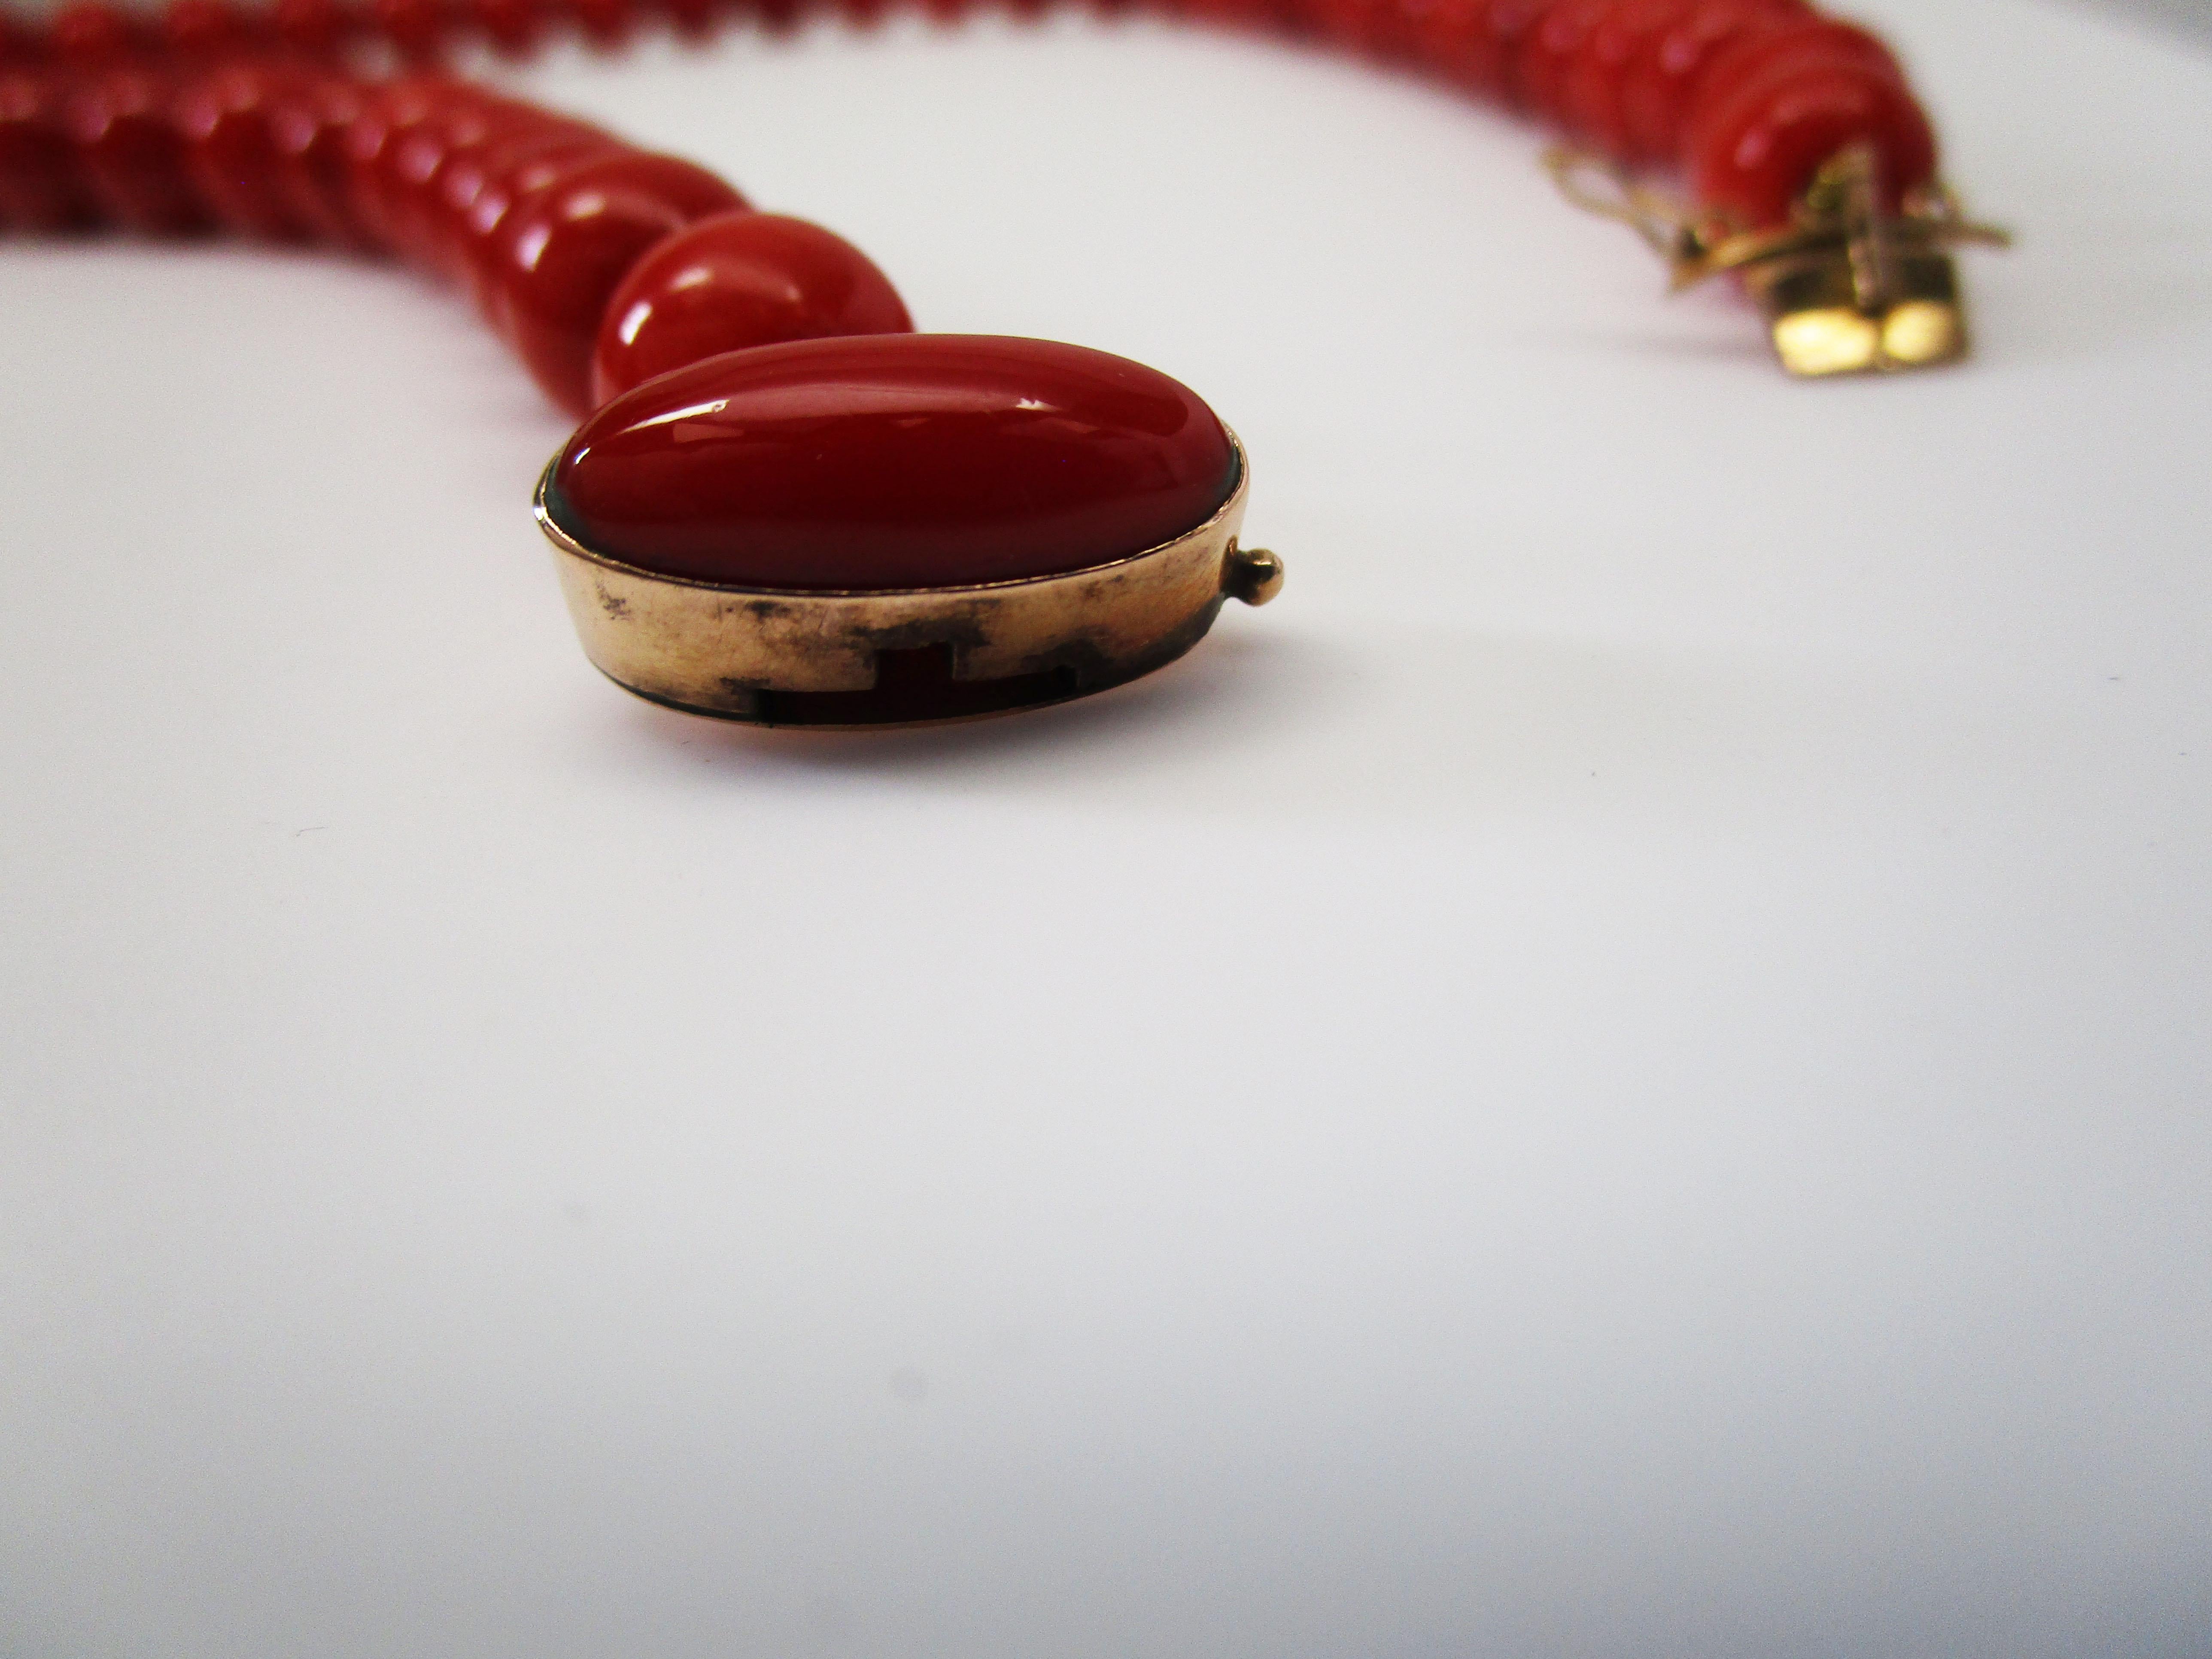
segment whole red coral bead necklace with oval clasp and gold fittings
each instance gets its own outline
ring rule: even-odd
[[[1889,49],[1803,0],[1166,4],[1548,117],[1584,146],[1553,153],[1562,188],[1635,226],[1677,285],[1734,274],[1794,374],[1964,352],[1949,250],[1997,234],[1938,184]],[[883,0],[841,9],[872,22]],[[323,241],[465,285],[584,418],[538,487],[584,650],[675,708],[774,726],[1035,708],[1172,661],[1230,597],[1274,597],[1281,562],[1239,544],[1243,449],[1190,389],[1075,345],[916,334],[827,230],[442,69],[469,38],[520,55],[555,27],[615,46],[648,20],[703,35],[796,11],[0,13],[0,228]],[[1661,166],[1692,206],[1628,177]]]

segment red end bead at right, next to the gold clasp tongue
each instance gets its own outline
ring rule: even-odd
[[[1690,135],[1690,179],[1708,208],[1752,226],[1783,223],[1820,166],[1854,144],[1874,146],[1891,210],[1936,175],[1936,135],[1896,75],[1849,62],[1783,62],[1701,119]]]

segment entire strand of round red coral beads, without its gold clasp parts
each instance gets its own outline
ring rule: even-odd
[[[1029,0],[1009,0],[1029,13]],[[1099,0],[1110,4],[1113,0]],[[0,228],[221,230],[383,252],[460,281],[560,405],[586,411],[708,352],[907,332],[856,248],[754,215],[706,170],[438,69],[555,29],[783,29],[803,0],[71,0],[0,13]],[[956,20],[971,0],[918,0]],[[1787,221],[1825,161],[1869,150],[1889,208],[1936,139],[1889,49],[1805,0],[1161,0],[1197,22],[1318,38],[1677,166],[1701,210]],[[872,22],[883,0],[841,0]],[[407,73],[352,69],[380,44]]]

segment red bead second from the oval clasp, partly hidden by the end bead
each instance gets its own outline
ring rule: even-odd
[[[493,323],[564,409],[591,409],[606,303],[648,248],[745,199],[672,155],[613,155],[568,170],[500,226]]]

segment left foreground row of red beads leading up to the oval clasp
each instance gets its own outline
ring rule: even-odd
[[[206,18],[210,0],[190,4],[204,35],[230,33]],[[46,62],[11,35],[0,226],[389,254],[462,281],[573,414],[714,352],[914,327],[856,248],[750,212],[690,161],[440,73],[356,80],[285,51],[195,69],[168,33],[102,64]],[[686,237],[695,223],[701,237]]]

